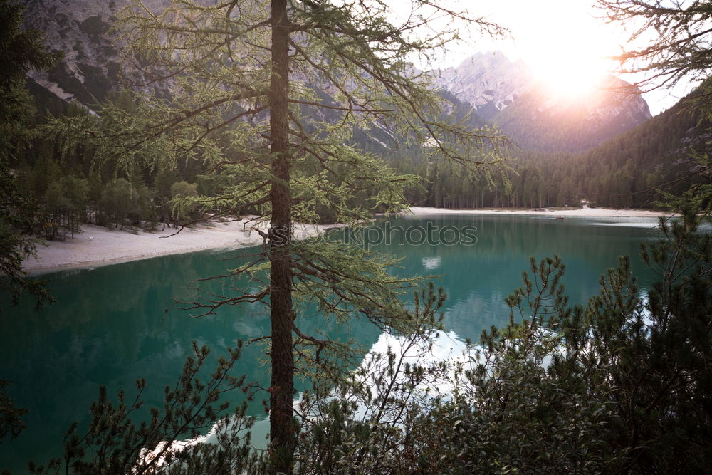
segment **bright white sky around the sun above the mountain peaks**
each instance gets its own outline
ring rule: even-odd
[[[462,5],[455,1],[455,5]],[[634,82],[642,77],[622,76],[609,57],[621,51],[629,34],[619,24],[609,24],[604,11],[592,0],[492,0],[467,4],[471,14],[508,28],[509,38],[468,38],[453,45],[442,66],[457,66],[476,51],[503,51],[512,60],[521,59],[553,90],[575,94],[592,88],[605,73]],[[645,93],[651,113],[674,105],[689,92],[689,85],[674,91]]]

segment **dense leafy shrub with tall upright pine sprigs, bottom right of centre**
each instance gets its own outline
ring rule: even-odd
[[[532,263],[532,276],[508,299],[513,312],[530,303],[530,320],[515,321],[483,335],[469,360],[444,369],[454,394],[424,402],[394,402],[407,417],[392,444],[357,439],[352,447],[373,456],[353,473],[527,473],[596,472],[606,466],[605,404],[569,392],[566,382],[548,376],[562,338],[553,331],[565,308],[559,259]],[[552,316],[553,315],[553,316]],[[451,363],[453,364],[453,363]],[[394,365],[380,372],[397,372]],[[426,371],[428,372],[428,371]],[[430,372],[426,379],[447,376]],[[370,427],[369,420],[365,421]],[[374,431],[375,432],[375,431]],[[351,444],[354,444],[351,446]],[[347,470],[347,473],[352,473]]]

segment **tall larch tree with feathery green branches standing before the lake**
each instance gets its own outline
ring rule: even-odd
[[[502,31],[457,2],[208,3],[172,1],[155,11],[135,1],[122,11],[113,32],[126,45],[125,77],[137,105],[107,105],[99,118],[71,119],[70,130],[127,172],[136,162],[202,160],[214,192],[176,206],[197,204],[218,216],[252,212],[269,222],[267,232],[254,229],[261,250],[221,276],[234,283],[224,286],[229,291],[201,293],[183,306],[201,315],[240,303],[268,306],[271,471],[290,473],[295,370],[316,365],[337,377],[335,358],[347,350],[303,333],[313,318],[307,309],[406,332],[398,297],[414,282],[390,275],[389,259],[355,246],[297,241],[293,222],[317,222],[317,209],[328,209],[353,225],[373,211],[404,208],[403,190],[417,177],[394,174],[360,150],[356,132],[384,131],[393,146],[420,147],[429,160],[465,169],[496,162],[503,138],[449,117],[449,103],[413,63],[427,63],[460,34]]]

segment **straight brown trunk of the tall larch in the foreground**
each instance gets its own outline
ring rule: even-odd
[[[293,420],[294,360],[292,353],[291,192],[289,188],[289,30],[287,1],[271,0],[272,71],[270,84],[271,171],[270,298],[271,365],[270,443],[271,471],[292,473],[295,448]]]

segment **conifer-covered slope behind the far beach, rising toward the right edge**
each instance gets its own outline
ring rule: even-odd
[[[428,177],[412,202],[434,207],[654,207],[665,192],[699,182],[696,155],[709,152],[709,123],[688,99],[627,132],[583,152],[518,149],[506,177],[464,176],[442,164],[400,165]],[[507,183],[508,182],[508,183]]]

